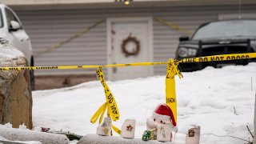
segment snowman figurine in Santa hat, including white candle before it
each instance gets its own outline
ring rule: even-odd
[[[154,139],[158,141],[171,141],[172,131],[178,132],[173,111],[165,103],[159,104],[152,116],[146,120],[146,129],[154,130]]]

